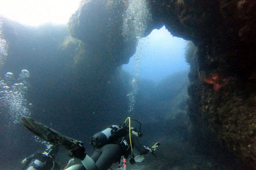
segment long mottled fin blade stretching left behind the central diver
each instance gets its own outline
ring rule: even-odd
[[[81,149],[84,145],[83,142],[69,138],[40,122],[34,121],[30,117],[23,116],[21,122],[28,130],[38,137],[53,145],[60,145],[71,152]]]

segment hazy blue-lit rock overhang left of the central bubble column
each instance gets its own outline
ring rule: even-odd
[[[82,40],[99,63],[121,65],[135,53],[136,37],[122,36],[124,7],[122,1],[84,1],[69,21],[71,36]]]

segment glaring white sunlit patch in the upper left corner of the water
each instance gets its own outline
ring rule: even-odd
[[[21,24],[65,24],[81,0],[1,0],[0,15]]]

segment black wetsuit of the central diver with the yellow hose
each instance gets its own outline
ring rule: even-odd
[[[145,149],[139,142],[136,135],[131,134],[132,147],[138,149],[140,155],[145,155],[149,150]],[[130,136],[129,134],[125,137],[120,138],[111,144],[107,144],[93,152],[91,158],[97,166],[97,170],[107,170],[110,166],[116,162],[119,162],[121,156],[125,158],[129,157],[131,154],[130,148]],[[74,165],[72,170],[84,170],[83,165]]]

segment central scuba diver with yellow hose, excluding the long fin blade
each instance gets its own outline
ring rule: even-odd
[[[91,144],[95,149],[91,157],[85,154],[85,148],[83,146],[71,151],[71,157],[81,159],[83,165],[73,165],[67,170],[106,170],[110,168],[112,164],[117,162],[119,162],[118,169],[125,170],[126,159],[129,156],[131,156],[130,163],[134,164],[136,162],[142,162],[144,159],[142,155],[146,155],[148,153],[152,153],[154,155],[154,152],[160,143],[157,142],[151,148],[148,146],[142,146],[138,139],[138,137],[142,137],[142,133],[140,130],[137,132],[136,129],[131,128],[130,117],[128,117],[126,121],[128,119],[129,126],[126,126],[125,124],[124,126],[112,125],[91,137]],[[133,154],[134,147],[140,153],[140,155],[135,157]]]

